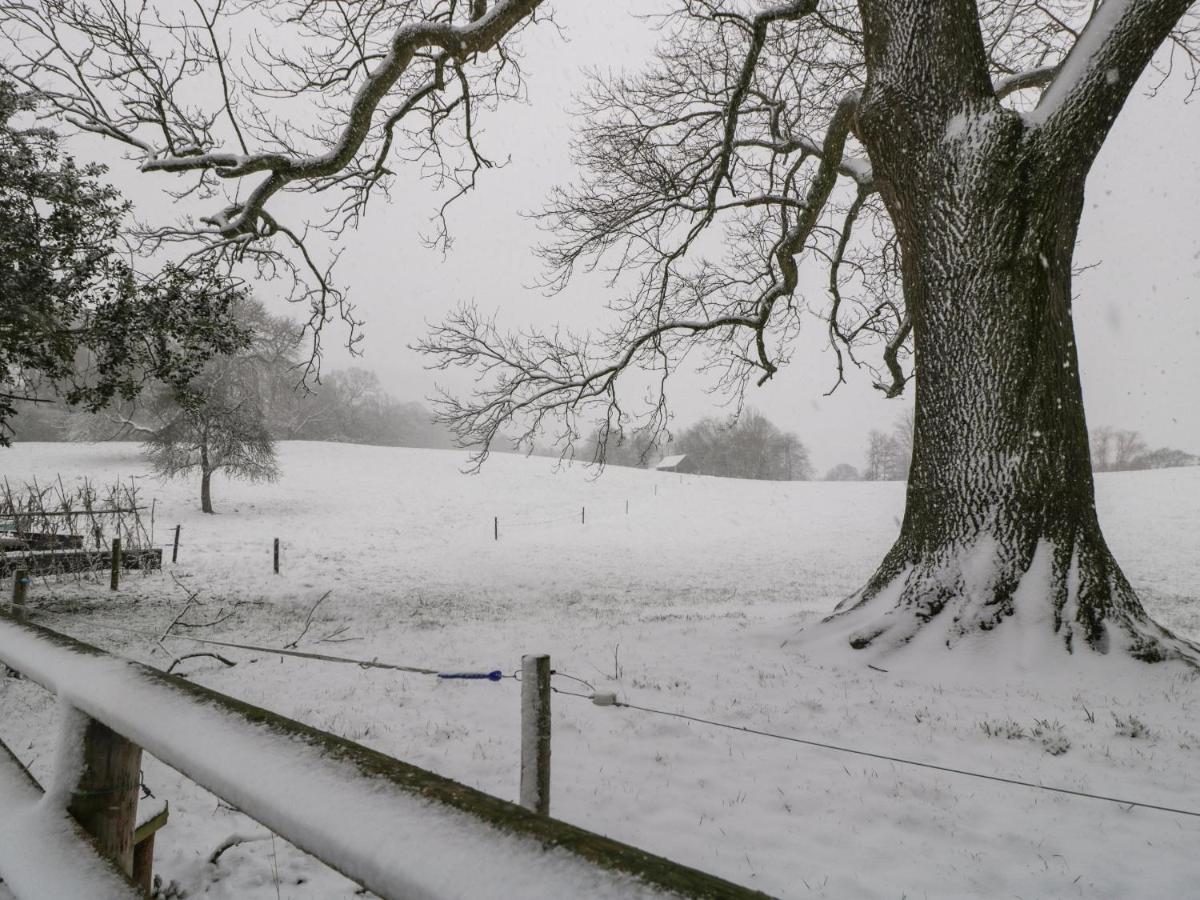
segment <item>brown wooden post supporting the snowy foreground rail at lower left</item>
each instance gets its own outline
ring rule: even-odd
[[[77,713],[82,715],[82,713]],[[133,828],[142,781],[142,748],[88,719],[83,773],[67,811],[126,875],[133,872]]]

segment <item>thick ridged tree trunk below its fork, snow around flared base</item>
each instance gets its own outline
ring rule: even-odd
[[[1067,650],[1192,656],[1097,521],[1070,302],[1086,172],[991,97],[908,128],[904,100],[874,86],[859,128],[901,245],[913,458],[899,540],[832,619],[856,648],[1019,622]]]

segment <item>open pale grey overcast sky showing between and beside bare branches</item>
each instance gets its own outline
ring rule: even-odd
[[[511,157],[488,173],[479,190],[451,212],[455,246],[443,259],[419,235],[428,228],[437,198],[425,185],[397,185],[391,204],[379,204],[356,233],[343,238],[338,277],[367,322],[365,355],[402,398],[431,392],[436,377],[454,388],[463,378],[425,371],[407,349],[461,300],[499,311],[514,328],[560,322],[586,326],[605,314],[605,288],[583,280],[565,294],[545,298],[527,288],[539,276],[530,252],[536,228],[521,216],[540,205],[550,187],[571,179],[566,109],[586,67],[638,67],[655,35],[632,16],[658,0],[554,2],[566,40],[550,26],[523,40],[529,102],[484,120],[485,150]],[[1184,104],[1182,78],[1154,100],[1135,96],[1122,113],[1088,182],[1079,264],[1099,263],[1076,280],[1075,326],[1084,395],[1091,425],[1136,428],[1152,446],[1200,452],[1200,101]],[[126,167],[128,163],[124,163]],[[116,163],[114,169],[120,168]],[[114,172],[115,174],[115,172]],[[122,174],[146,209],[156,178]],[[820,272],[810,281],[821,290]],[[265,293],[265,292],[264,292]],[[326,338],[331,367],[347,365],[341,334]],[[814,319],[793,364],[749,402],[800,434],[820,473],[838,462],[862,466],[866,432],[887,428],[911,398],[887,401],[868,373],[832,397],[833,362]],[[677,424],[720,413],[701,379],[683,376],[671,389]]]

